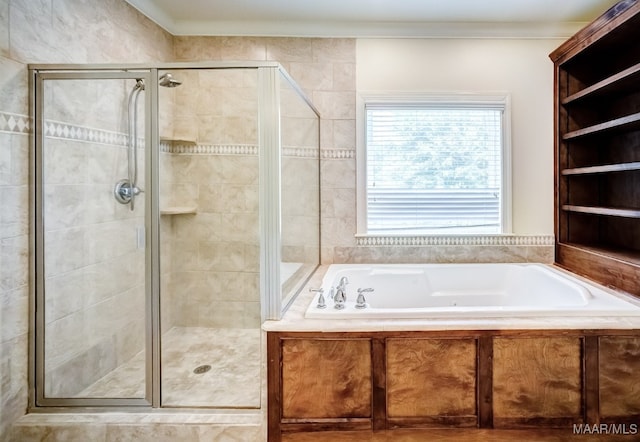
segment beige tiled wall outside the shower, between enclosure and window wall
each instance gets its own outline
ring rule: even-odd
[[[356,40],[176,37],[178,61],[280,62],[321,115],[322,260],[355,247]]]

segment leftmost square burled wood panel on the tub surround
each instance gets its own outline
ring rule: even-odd
[[[282,417],[371,417],[371,341],[284,339]]]

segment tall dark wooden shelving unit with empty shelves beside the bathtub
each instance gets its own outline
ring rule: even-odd
[[[551,53],[556,263],[640,296],[640,0]]]

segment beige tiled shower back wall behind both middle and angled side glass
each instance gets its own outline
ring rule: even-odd
[[[174,70],[161,90],[163,329],[260,325],[258,76],[256,69]],[[319,257],[319,123],[282,81],[282,258]],[[166,97],[166,100],[163,98]],[[266,148],[266,147],[265,147]]]

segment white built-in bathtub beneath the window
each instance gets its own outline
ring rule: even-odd
[[[349,283],[339,310],[331,295],[343,276]],[[373,289],[364,308],[356,308],[359,288]],[[326,307],[318,308],[317,294],[305,317],[640,316],[640,303],[542,264],[336,264],[322,289]]]

